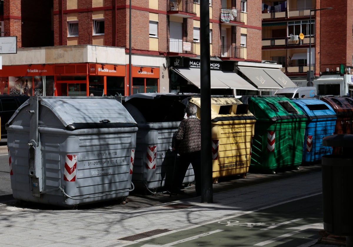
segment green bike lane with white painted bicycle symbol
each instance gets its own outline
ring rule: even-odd
[[[321,229],[322,194],[316,194],[122,246],[298,247],[319,239]]]

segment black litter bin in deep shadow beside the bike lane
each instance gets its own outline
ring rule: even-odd
[[[353,134],[330,135],[323,138],[322,143],[342,149],[342,155],[322,157],[324,229],[330,234],[349,236],[352,242]]]

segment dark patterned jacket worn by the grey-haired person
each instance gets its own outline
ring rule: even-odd
[[[179,153],[191,153],[201,150],[201,121],[191,116],[180,122],[175,135],[175,146]]]

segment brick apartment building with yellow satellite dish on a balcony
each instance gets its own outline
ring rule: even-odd
[[[352,95],[352,12],[346,0],[263,0],[262,59],[282,64],[298,86],[313,85],[321,95]]]

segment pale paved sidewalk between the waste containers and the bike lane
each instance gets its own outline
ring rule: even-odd
[[[200,197],[193,197],[138,209],[119,205],[109,210],[36,210],[0,204],[0,246],[128,246],[143,240],[133,240],[137,234],[154,231],[152,235],[156,237],[166,234],[163,229],[170,230],[170,233],[319,194],[322,192],[321,179],[321,172],[316,171],[216,192],[214,203],[200,203]],[[182,209],[178,208],[179,205],[192,207]],[[125,240],[121,240],[123,238]],[[339,246],[316,242],[300,247]]]

